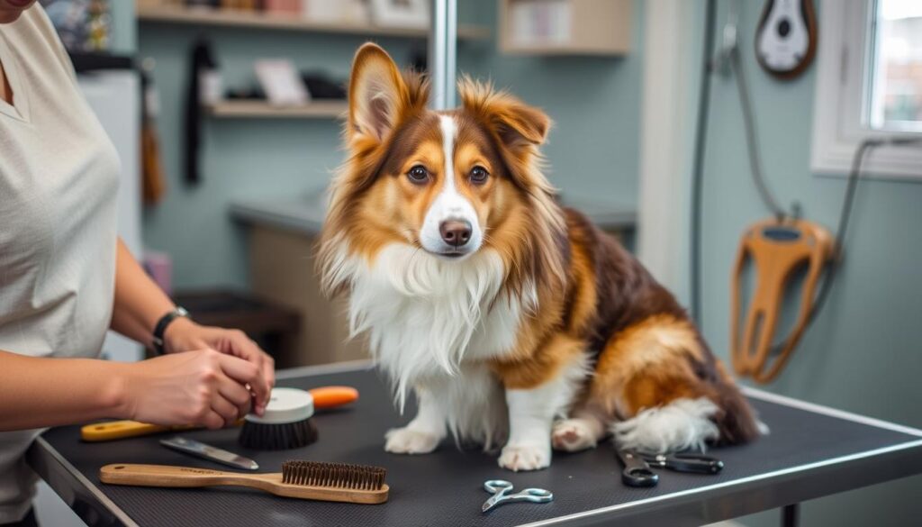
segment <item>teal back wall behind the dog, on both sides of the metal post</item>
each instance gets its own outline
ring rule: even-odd
[[[462,21],[495,24],[494,0],[459,4]],[[636,45],[627,58],[505,58],[497,54],[492,39],[458,45],[459,69],[495,79],[499,86],[544,107],[557,122],[547,151],[551,178],[567,194],[604,192],[622,203],[635,203],[642,15],[638,3]],[[284,31],[206,33],[229,85],[251,81],[253,62],[263,57],[287,57],[298,66],[346,78],[352,54],[365,40]],[[339,125],[332,120],[209,119],[204,182],[185,186],[181,140],[186,55],[198,34],[193,28],[159,24],[138,30],[140,56],[157,60],[160,141],[170,186],[165,201],[145,214],[145,242],[149,249],[172,255],[178,287],[245,286],[245,233],[229,219],[228,204],[238,198],[285,198],[325,187],[343,159]],[[398,61],[408,58],[412,45],[403,39],[377,42]]]

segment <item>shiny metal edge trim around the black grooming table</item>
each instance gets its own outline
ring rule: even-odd
[[[313,377],[319,375],[333,374],[333,373],[346,373],[351,371],[365,371],[372,369],[374,363],[370,359],[362,359],[356,361],[349,361],[343,363],[333,363],[328,365],[309,365],[301,366],[296,368],[288,368],[285,370],[279,370],[276,378],[278,380],[285,380],[296,377]],[[857,413],[848,413],[845,411],[837,410],[828,406],[823,406],[821,404],[810,403],[806,401],[799,401],[796,399],[788,398],[786,396],[776,395],[771,392],[763,391],[761,389],[752,389],[750,387],[744,387],[743,392],[747,396],[751,396],[755,399],[760,399],[763,401],[771,401],[778,404],[783,404],[786,406],[795,407],[801,410],[807,410],[815,413],[823,413],[826,415],[832,415],[834,417],[839,417],[849,421],[854,421],[857,423],[862,423],[865,425],[877,426],[885,428],[888,430],[893,430],[897,432],[903,432],[904,434],[919,437],[918,439],[913,439],[906,441],[904,443],[899,443],[889,447],[884,447],[881,449],[873,449],[865,452],[859,452],[856,454],[850,454],[847,456],[840,456],[825,461],[816,461],[813,463],[808,463],[804,465],[798,465],[796,467],[790,467],[787,469],[782,469],[778,471],[773,471],[770,473],[762,473],[757,475],[748,476],[745,478],[739,478],[727,482],[722,482],[715,485],[707,485],[703,487],[698,487],[694,489],[689,489],[685,491],[680,491],[677,493],[672,493],[664,496],[651,497],[647,499],[641,499],[632,501],[629,503],[622,503],[619,505],[613,505],[610,507],[604,507],[601,509],[592,509],[585,510],[576,514],[571,514],[567,516],[561,516],[560,518],[553,518],[550,520],[536,521],[531,523],[526,523],[520,527],[544,527],[550,525],[560,525],[563,523],[572,524],[572,525],[594,525],[602,521],[610,521],[615,518],[621,520],[621,516],[624,514],[629,514],[630,510],[634,509],[641,511],[642,509],[648,509],[651,506],[655,506],[659,502],[662,502],[667,499],[675,500],[676,498],[684,498],[681,502],[675,503],[669,506],[666,509],[661,509],[660,512],[664,515],[668,515],[670,510],[672,513],[677,514],[677,516],[672,517],[671,519],[677,521],[676,524],[680,524],[679,521],[682,519],[690,521],[691,519],[687,516],[682,515],[682,513],[687,513],[689,507],[699,510],[715,510],[721,509],[722,507],[734,506],[739,507],[736,503],[730,503],[731,501],[736,501],[738,497],[727,497],[726,494],[721,491],[725,488],[735,489],[739,493],[749,493],[750,495],[754,493],[761,493],[762,490],[754,488],[754,485],[760,485],[766,480],[777,480],[776,484],[782,484],[786,481],[790,481],[798,476],[799,473],[805,471],[817,470],[817,469],[832,469],[835,470],[838,468],[839,472],[850,473],[855,471],[860,471],[868,477],[865,481],[862,482],[848,482],[845,483],[843,478],[827,478],[827,481],[833,481],[835,484],[839,485],[834,490],[825,490],[825,491],[816,491],[810,496],[799,497],[798,499],[785,499],[784,493],[778,492],[776,496],[773,496],[775,502],[772,503],[771,507],[762,507],[760,509],[753,509],[749,511],[743,511],[739,513],[734,513],[727,517],[722,517],[719,515],[709,516],[706,518],[706,521],[721,521],[728,518],[733,518],[741,516],[744,514],[749,514],[752,512],[758,512],[760,510],[774,509],[777,507],[782,507],[790,503],[804,501],[806,499],[812,499],[815,497],[829,496],[838,492],[844,492],[846,490],[852,490],[860,488],[862,486],[874,485],[884,481],[889,481],[893,479],[899,479],[901,477],[906,477],[916,473],[922,473],[922,430],[912,428],[904,425],[896,425],[887,421],[880,419],[874,419],[860,415]],[[913,450],[916,450],[916,455],[913,455]],[[108,510],[112,513],[112,521],[117,521],[118,524],[124,525],[126,527],[137,527],[137,523],[133,521],[124,510],[120,509],[114,502],[112,502],[109,497],[106,497],[105,494],[100,490],[96,485],[93,485],[82,473],[77,471],[77,468],[74,467],[70,462],[66,461],[61,454],[53,449],[53,447],[44,440],[42,437],[37,437],[34,444],[29,449],[27,453],[27,459],[29,461],[32,469],[38,473],[41,478],[50,485],[53,490],[65,498],[65,494],[62,492],[61,488],[58,488],[61,481],[52,481],[51,471],[52,465],[49,461],[56,463],[60,469],[71,478],[76,480],[79,485],[85,487],[90,496],[96,499],[96,505]],[[852,461],[865,461],[860,468],[853,468],[849,470],[844,463]],[[876,462],[875,462],[876,461]],[[892,462],[892,461],[909,461],[909,462]],[[876,470],[875,470],[876,469]],[[742,486],[740,486],[742,485]],[[761,485],[760,485],[761,486]],[[65,502],[67,500],[65,499]],[[764,497],[762,497],[762,504],[765,503]],[[68,503],[68,505],[73,506],[73,503]],[[667,518],[670,518],[667,516]],[[627,519],[626,519],[627,520]],[[649,518],[646,517],[646,520],[639,522],[646,523],[649,521]],[[701,518],[696,518],[694,521],[689,522],[689,525],[695,523],[700,523]],[[621,524],[621,523],[620,523]],[[631,522],[625,523],[625,525],[631,525]]]

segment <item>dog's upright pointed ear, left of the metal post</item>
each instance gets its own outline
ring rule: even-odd
[[[349,78],[349,136],[381,141],[402,115],[425,106],[423,83],[418,78],[410,80],[412,86],[381,47],[371,42],[362,45]]]

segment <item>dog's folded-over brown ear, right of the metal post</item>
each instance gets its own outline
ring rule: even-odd
[[[538,146],[548,138],[550,117],[514,96],[495,91],[490,83],[462,78],[458,83],[461,101],[467,111],[491,126],[502,145],[512,151]]]

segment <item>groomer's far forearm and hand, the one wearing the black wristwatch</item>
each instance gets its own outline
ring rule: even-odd
[[[124,336],[148,345],[160,317],[176,307],[156,282],[141,268],[122,240],[118,243],[115,260],[115,302],[112,308],[112,329]],[[176,318],[163,335],[166,353],[212,349],[240,357],[260,372],[260,379],[251,385],[254,410],[262,413],[275,384],[275,362],[238,329],[201,326],[184,317]]]

